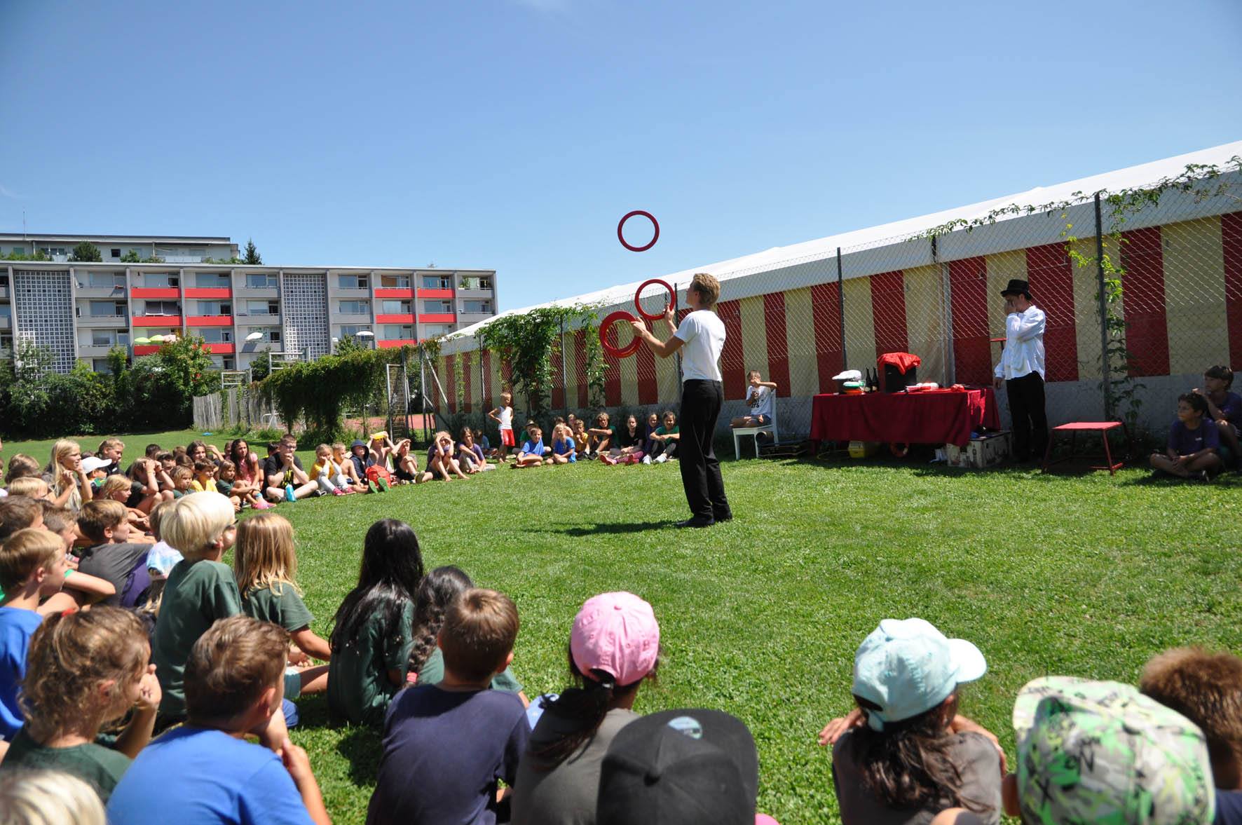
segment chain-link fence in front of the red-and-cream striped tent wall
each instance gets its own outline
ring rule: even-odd
[[[920,381],[990,385],[1005,334],[1000,292],[1022,280],[1047,316],[1049,425],[1123,417],[1163,431],[1176,396],[1199,386],[1205,368],[1242,365],[1242,180],[1213,171],[1007,206],[966,225],[712,273],[728,333],[722,427],[745,411],[750,369],[779,386],[782,441],[807,436],[812,399],[836,391],[833,375],[874,370],[884,353],[919,355]],[[684,301],[689,273],[668,280]],[[633,286],[617,287],[599,317],[633,312],[632,296]],[[655,288],[642,303],[657,312],[663,301]],[[651,326],[668,334],[662,322]],[[646,347],[628,358],[602,354],[602,381],[592,385],[595,334],[566,328],[554,345],[550,416],[594,419],[606,409],[616,422],[677,410],[678,360]],[[620,347],[632,337],[623,323],[607,334]],[[455,420],[476,425],[512,379],[474,337],[450,338],[436,370]],[[1007,425],[1005,393],[997,400]],[[520,398],[514,405],[520,425],[527,411]]]

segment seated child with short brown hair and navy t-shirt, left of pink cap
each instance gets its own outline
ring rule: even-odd
[[[513,784],[530,727],[522,701],[492,691],[513,661],[518,610],[494,590],[467,590],[440,630],[445,678],[389,707],[369,825],[491,823],[497,780]]]

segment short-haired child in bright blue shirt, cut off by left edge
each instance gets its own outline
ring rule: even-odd
[[[47,531],[21,529],[0,544],[0,739],[5,742],[25,719],[17,695],[30,639],[43,621],[39,600],[60,591],[67,569],[61,539]]]

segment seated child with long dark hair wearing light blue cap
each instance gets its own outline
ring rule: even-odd
[[[1000,821],[1004,754],[958,714],[959,686],[986,672],[977,647],[922,619],[879,622],[854,655],[858,709],[820,733],[842,823],[929,823],[946,808]]]

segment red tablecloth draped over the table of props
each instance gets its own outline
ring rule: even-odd
[[[816,395],[811,437],[817,441],[970,444],[971,430],[999,430],[996,394],[982,390]]]

